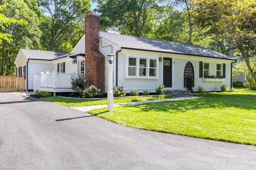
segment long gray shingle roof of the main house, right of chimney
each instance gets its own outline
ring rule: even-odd
[[[173,43],[169,41],[154,40],[141,37],[133,37],[122,34],[114,34],[109,32],[100,31],[100,36],[111,41],[112,43],[130,49],[153,50],[160,52],[179,53],[224,59],[234,59],[228,55],[216,52],[211,49],[205,49],[200,46]],[[235,60],[235,59],[234,59]]]

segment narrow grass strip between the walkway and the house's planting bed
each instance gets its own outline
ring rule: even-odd
[[[144,101],[144,100],[155,100],[163,98],[173,98],[173,95],[161,95],[161,96],[136,96],[136,97],[126,97],[114,99],[114,103],[125,103],[131,101]],[[58,104],[62,104],[67,107],[81,107],[81,106],[92,106],[107,104],[107,99],[79,99],[79,98],[63,98],[63,97],[46,97],[42,98],[45,101],[51,101]]]

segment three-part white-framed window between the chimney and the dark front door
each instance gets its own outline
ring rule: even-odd
[[[128,57],[128,77],[157,78],[158,60]]]

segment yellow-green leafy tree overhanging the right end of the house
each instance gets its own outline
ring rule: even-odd
[[[256,0],[193,0],[197,22],[205,26],[213,21],[225,40],[232,40],[256,81]]]

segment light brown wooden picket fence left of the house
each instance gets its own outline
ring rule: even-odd
[[[25,91],[24,77],[0,75],[0,92]]]

